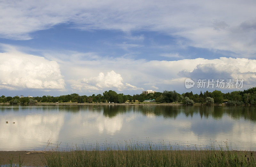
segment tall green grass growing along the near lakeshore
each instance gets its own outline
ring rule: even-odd
[[[165,144],[145,147],[137,142],[117,147],[105,144],[101,150],[96,144],[89,150],[58,150],[45,156],[45,166],[256,166],[254,152],[230,151],[227,143],[220,150],[172,150]]]

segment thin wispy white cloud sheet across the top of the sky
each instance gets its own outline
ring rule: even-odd
[[[28,40],[33,38],[31,32],[68,23],[82,30],[156,31],[175,36],[177,42],[188,46],[252,56],[256,52],[255,6],[255,1],[249,0],[6,0],[0,5],[0,36]]]

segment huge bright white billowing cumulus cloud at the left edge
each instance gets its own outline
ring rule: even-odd
[[[55,61],[16,51],[0,53],[0,59],[0,89],[65,89]]]

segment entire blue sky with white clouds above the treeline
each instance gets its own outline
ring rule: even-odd
[[[2,0],[0,95],[255,87],[255,8],[253,0]]]

